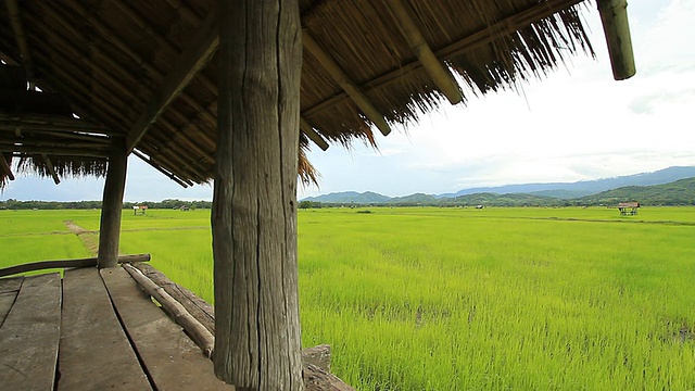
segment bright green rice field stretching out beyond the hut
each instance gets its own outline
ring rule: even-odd
[[[356,389],[695,389],[694,207],[365,212],[299,215],[303,344]],[[62,219],[99,212],[0,211],[0,266],[86,256]],[[212,301],[208,227],[126,211],[122,251]]]

